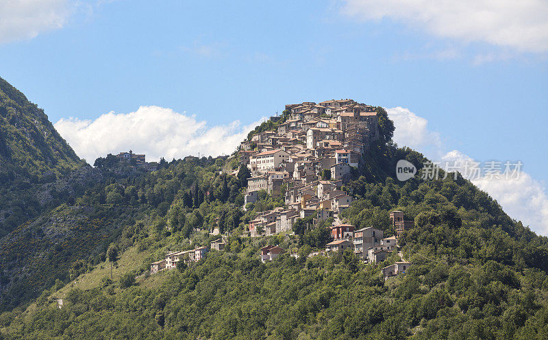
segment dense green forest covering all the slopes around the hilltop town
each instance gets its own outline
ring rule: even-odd
[[[353,252],[309,257],[332,241],[331,220],[247,237],[247,222],[284,200],[262,191],[242,210],[250,173],[237,153],[162,159],[151,172],[112,155],[82,165],[66,150],[54,152],[57,163],[36,163],[43,168],[10,161],[28,175],[8,178],[5,193],[47,203],[3,222],[0,339],[548,339],[548,239],[460,175],[395,180],[397,160],[425,158],[395,145],[393,123],[377,112],[382,138],[343,186],[356,198],[343,218],[386,235],[395,232],[390,210],[414,219],[401,252],[382,263]],[[54,178],[32,177],[45,167]],[[209,245],[214,228],[227,235],[225,250],[149,274],[166,252]],[[261,263],[264,245],[287,252]],[[385,281],[380,269],[401,258],[413,265]]]

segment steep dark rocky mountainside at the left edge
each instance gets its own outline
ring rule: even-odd
[[[64,177],[80,167],[44,111],[0,78],[0,237],[73,195]]]

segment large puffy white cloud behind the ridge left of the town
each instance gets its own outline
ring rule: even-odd
[[[260,122],[242,126],[239,121],[209,127],[195,116],[169,108],[141,106],[136,112],[102,114],[95,121],[60,119],[55,129],[90,163],[106,154],[132,149],[147,160],[184,156],[232,154],[247,132]]]

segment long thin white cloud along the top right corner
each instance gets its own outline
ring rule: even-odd
[[[548,51],[545,0],[346,0],[343,12],[365,20],[402,21],[443,38]]]

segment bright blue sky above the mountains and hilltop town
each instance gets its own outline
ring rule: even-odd
[[[139,112],[183,115],[207,152],[221,140],[206,132],[235,143],[284,104],[353,98],[414,112],[443,152],[521,160],[546,192],[548,10],[538,1],[18,2],[0,5],[0,76],[54,123],[99,128],[108,112],[157,106]],[[473,19],[486,9],[490,20]],[[64,136],[95,155],[80,151],[86,134]]]

